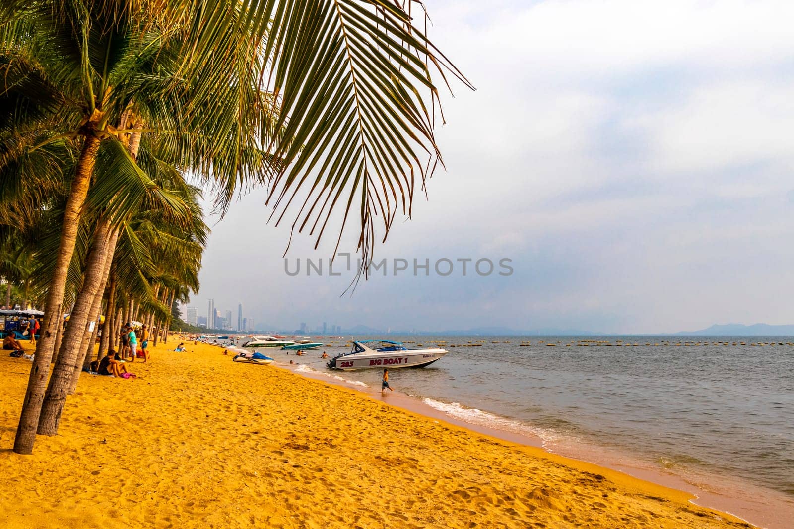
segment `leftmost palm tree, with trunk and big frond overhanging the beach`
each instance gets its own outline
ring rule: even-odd
[[[375,218],[382,218],[385,237],[400,207],[410,215],[416,180],[423,185],[440,160],[431,72],[443,76],[447,68],[461,78],[414,26],[411,6],[410,0],[404,6],[378,0],[6,2],[0,8],[0,153],[35,148],[33,131],[42,128],[79,151],[48,315],[60,313],[64,302],[101,150],[113,151],[107,164],[129,165],[118,147],[119,134],[129,129],[111,124],[121,123],[131,104],[147,129],[172,142],[177,165],[214,187],[220,210],[237,192],[273,176],[280,222],[308,186],[293,228],[308,229],[319,241],[331,212],[344,207],[341,237],[355,208],[357,245],[370,257]],[[33,450],[57,325],[57,318],[47,319],[37,347],[14,446],[21,454]]]

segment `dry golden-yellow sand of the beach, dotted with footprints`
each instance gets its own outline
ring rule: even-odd
[[[171,338],[169,347],[176,345]],[[29,361],[0,357],[0,527],[740,527],[690,496],[214,346],[83,374],[13,454]]]

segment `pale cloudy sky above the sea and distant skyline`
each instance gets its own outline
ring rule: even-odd
[[[287,274],[289,227],[267,222],[258,189],[210,218],[198,315],[214,298],[260,330],[794,322],[794,2],[425,5],[477,90],[442,94],[445,170],[376,249],[386,276],[345,293],[345,258],[327,269],[335,237],[314,250],[301,234]],[[355,237],[340,251],[355,256]]]

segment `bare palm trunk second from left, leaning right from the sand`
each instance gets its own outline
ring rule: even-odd
[[[97,291],[104,288],[105,261],[110,251],[112,239],[110,221],[102,220],[94,231],[94,245],[86,261],[83,286],[77,295],[75,307],[69,316],[69,326],[64,333],[64,350],[52,369],[44,403],[39,417],[38,433],[55,435],[60,423],[60,411],[64,408],[67,392],[71,386],[71,376],[75,371],[75,361],[83,353],[83,338],[91,322],[91,308]],[[80,358],[82,365],[83,358]]]

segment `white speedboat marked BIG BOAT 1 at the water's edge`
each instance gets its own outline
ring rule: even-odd
[[[446,349],[406,349],[402,342],[363,340],[353,342],[348,353],[341,353],[328,361],[330,369],[353,371],[369,368],[418,368],[432,364],[449,353]]]

